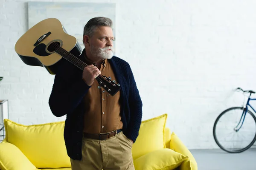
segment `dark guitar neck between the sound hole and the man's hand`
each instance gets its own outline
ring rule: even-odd
[[[64,59],[67,59],[69,62],[71,62],[73,65],[76,65],[76,67],[80,68],[81,70],[84,70],[84,67],[88,66],[83,61],[75,57],[73,54],[70,54],[68,51],[66,51],[62,47],[58,47],[54,50],[57,54],[61,55]]]

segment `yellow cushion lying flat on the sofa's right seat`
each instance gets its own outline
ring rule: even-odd
[[[186,159],[188,156],[163,148],[135,159],[134,167],[136,170],[174,170]]]

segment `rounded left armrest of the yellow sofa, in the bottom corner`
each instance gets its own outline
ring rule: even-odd
[[[37,170],[14,144],[0,143],[0,170]]]

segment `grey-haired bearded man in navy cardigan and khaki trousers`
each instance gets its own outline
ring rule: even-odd
[[[49,106],[67,115],[64,140],[72,170],[134,170],[131,149],[142,119],[142,101],[128,62],[113,56],[112,20],[90,19],[84,26],[85,49],[79,70],[63,61],[55,75]],[[121,89],[115,95],[101,88],[100,75]]]

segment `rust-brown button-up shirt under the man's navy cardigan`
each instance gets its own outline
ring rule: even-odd
[[[86,56],[85,60],[87,65],[93,64]],[[102,62],[100,71],[102,75],[111,77],[111,80],[116,82],[108,59]],[[106,133],[122,129],[119,98],[120,91],[111,96],[95,79],[84,96],[84,133]]]

